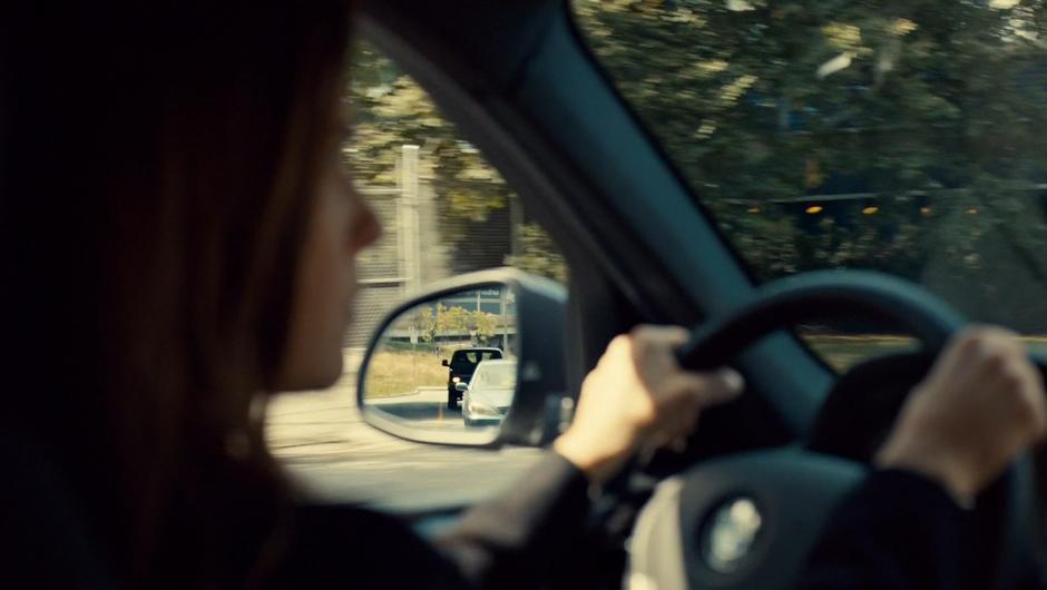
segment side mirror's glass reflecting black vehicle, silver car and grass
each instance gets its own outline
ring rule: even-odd
[[[501,285],[415,305],[381,334],[362,403],[403,426],[497,431],[517,385],[516,301]]]

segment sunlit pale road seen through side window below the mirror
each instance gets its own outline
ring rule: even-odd
[[[541,455],[535,449],[481,451],[395,439],[363,422],[354,381],[346,374],[331,390],[280,395],[268,407],[273,453],[321,501],[394,511],[472,503],[510,488]],[[460,414],[440,420],[461,427]]]

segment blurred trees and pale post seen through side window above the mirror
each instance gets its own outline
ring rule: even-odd
[[[348,100],[355,135],[345,163],[384,234],[361,257],[363,288],[346,345],[364,346],[392,303],[441,278],[516,266],[566,282],[556,246],[429,95],[373,46],[361,43],[354,56]]]

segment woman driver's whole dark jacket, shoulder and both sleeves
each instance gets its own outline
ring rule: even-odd
[[[118,588],[76,525],[74,502],[50,465],[16,444],[0,446],[0,458],[11,475],[0,494],[4,580],[14,581],[12,588]],[[551,453],[436,544],[392,517],[303,507],[267,587],[535,588],[577,559],[588,509],[584,475]],[[901,471],[873,473],[830,519],[796,588],[970,588],[965,564],[978,555],[968,554],[967,518],[936,484]]]

